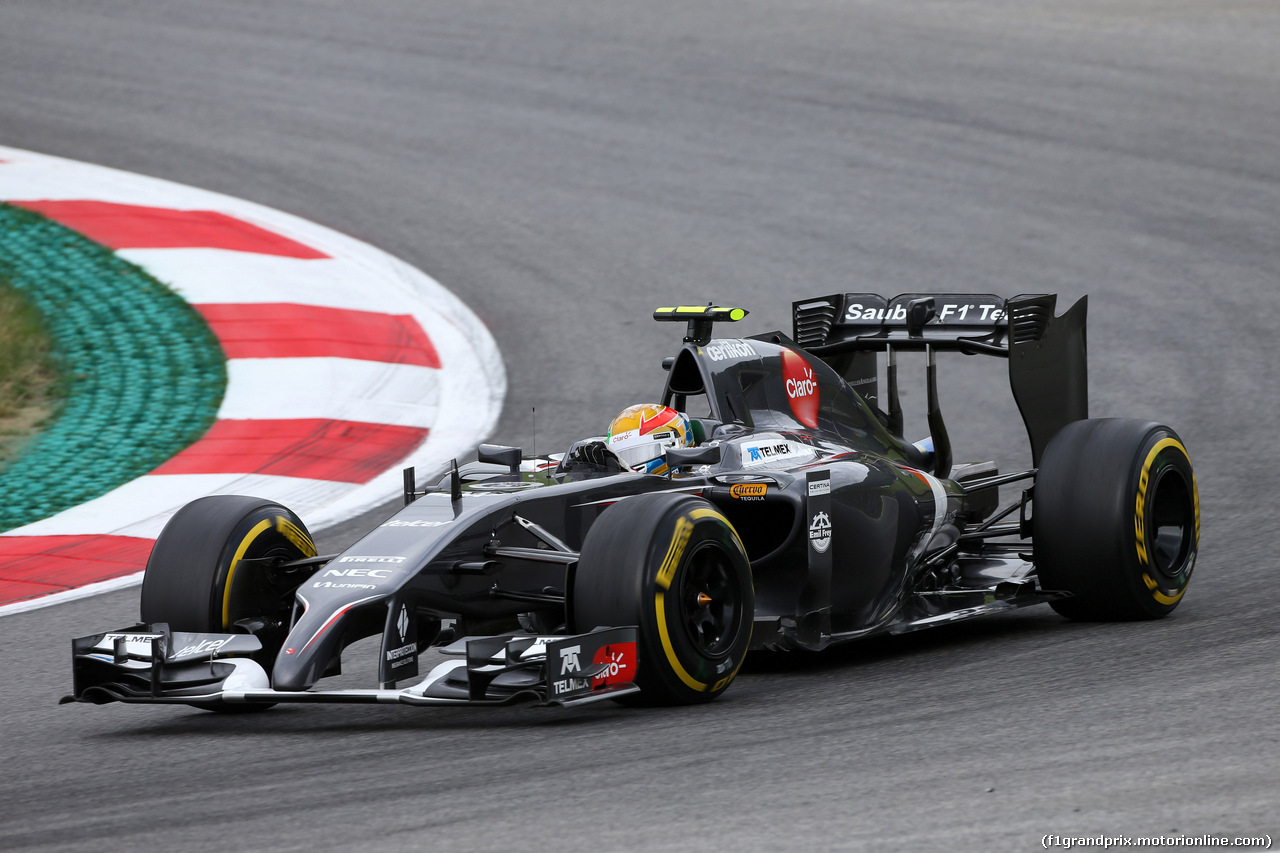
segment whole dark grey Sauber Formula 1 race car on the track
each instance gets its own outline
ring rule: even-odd
[[[1055,305],[842,293],[795,302],[791,337],[748,338],[713,334],[741,309],[659,309],[687,324],[660,397],[687,441],[644,465],[613,430],[543,457],[481,444],[430,488],[407,469],[404,507],[339,555],[271,501],[200,498],[156,540],[142,622],[74,640],[64,701],[676,704],[719,695],[750,649],[1041,602],[1165,616],[1199,542],[1190,460],[1167,426],[1088,418],[1085,300]],[[900,351],[927,353],[914,444]],[[938,351],[1007,359],[1034,467],[952,461]],[[316,686],[375,635],[378,686]]]

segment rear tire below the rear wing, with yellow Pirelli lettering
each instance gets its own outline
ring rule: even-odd
[[[1178,607],[1199,548],[1190,457],[1169,426],[1094,419],[1044,448],[1032,528],[1041,585],[1078,620],[1158,619]]]

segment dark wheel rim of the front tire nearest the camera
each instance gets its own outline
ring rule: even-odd
[[[689,642],[708,658],[733,647],[742,620],[742,590],[728,555],[705,542],[690,556],[680,584],[680,615]]]

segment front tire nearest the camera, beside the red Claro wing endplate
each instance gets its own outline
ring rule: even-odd
[[[579,631],[639,626],[640,693],[623,702],[691,704],[714,699],[737,675],[755,590],[728,519],[701,498],[664,492],[600,515],[582,543],[571,603]]]

